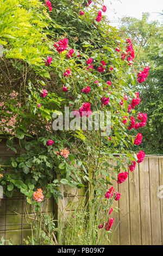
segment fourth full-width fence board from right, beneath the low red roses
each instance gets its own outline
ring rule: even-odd
[[[121,170],[124,172],[124,170]],[[129,179],[118,185],[121,193],[120,206],[120,245],[130,245],[130,208],[129,208]]]

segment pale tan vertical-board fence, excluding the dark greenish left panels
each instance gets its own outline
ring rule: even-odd
[[[111,160],[108,162],[116,165]],[[129,172],[125,182],[120,185],[116,181],[112,183],[115,191],[121,193],[121,198],[114,204],[120,209],[119,214],[112,212],[110,215],[115,218],[111,244],[162,245],[163,156],[146,156],[142,163],[136,164],[133,173]],[[59,209],[67,206],[65,215],[68,216],[68,203],[77,202],[84,193],[64,185],[61,191],[64,199],[59,202]]]

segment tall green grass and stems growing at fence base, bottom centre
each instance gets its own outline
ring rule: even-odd
[[[109,210],[114,199],[104,204],[100,196],[86,202],[86,197],[78,202],[72,200],[69,211],[62,210],[58,222],[58,245],[109,245],[112,232],[105,230],[105,226],[98,226],[108,222]],[[68,213],[68,215],[67,215]]]

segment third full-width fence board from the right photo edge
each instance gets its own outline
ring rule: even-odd
[[[141,245],[139,165],[129,172],[130,231],[131,245]]]

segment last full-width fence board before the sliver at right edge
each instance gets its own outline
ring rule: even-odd
[[[151,196],[152,245],[161,245],[161,216],[159,188],[159,162],[157,157],[149,158],[149,181]]]

